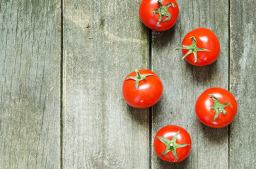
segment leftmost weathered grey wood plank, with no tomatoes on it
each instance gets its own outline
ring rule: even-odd
[[[0,1],[0,168],[60,168],[59,1]]]

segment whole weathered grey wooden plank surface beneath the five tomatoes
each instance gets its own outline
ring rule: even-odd
[[[178,0],[166,32],[146,28],[141,0],[0,0],[0,168],[255,168],[255,1]],[[183,37],[213,30],[221,54],[198,68],[180,61]],[[122,98],[124,77],[153,70],[161,101],[139,110]],[[202,125],[194,103],[228,89],[238,114]],[[180,125],[192,137],[181,163],[161,161],[156,132]]]

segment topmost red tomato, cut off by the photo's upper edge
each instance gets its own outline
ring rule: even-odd
[[[178,15],[179,7],[175,0],[142,0],[139,6],[141,21],[151,30],[169,30]]]

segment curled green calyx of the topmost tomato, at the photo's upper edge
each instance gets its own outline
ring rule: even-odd
[[[158,0],[158,9],[153,10],[153,15],[156,15],[156,13],[159,14],[158,23],[156,24],[156,27],[158,27],[159,23],[170,20],[172,16],[168,12],[168,8],[170,8],[170,6],[173,6],[173,8],[176,7],[175,4],[173,4],[172,2],[168,3],[165,6],[163,6],[162,4],[163,2],[161,0]],[[165,20],[162,20],[164,15],[167,16],[167,18]]]

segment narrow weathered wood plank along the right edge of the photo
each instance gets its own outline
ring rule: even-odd
[[[230,168],[256,164],[255,1],[231,0],[230,90],[238,114],[230,126]]]

